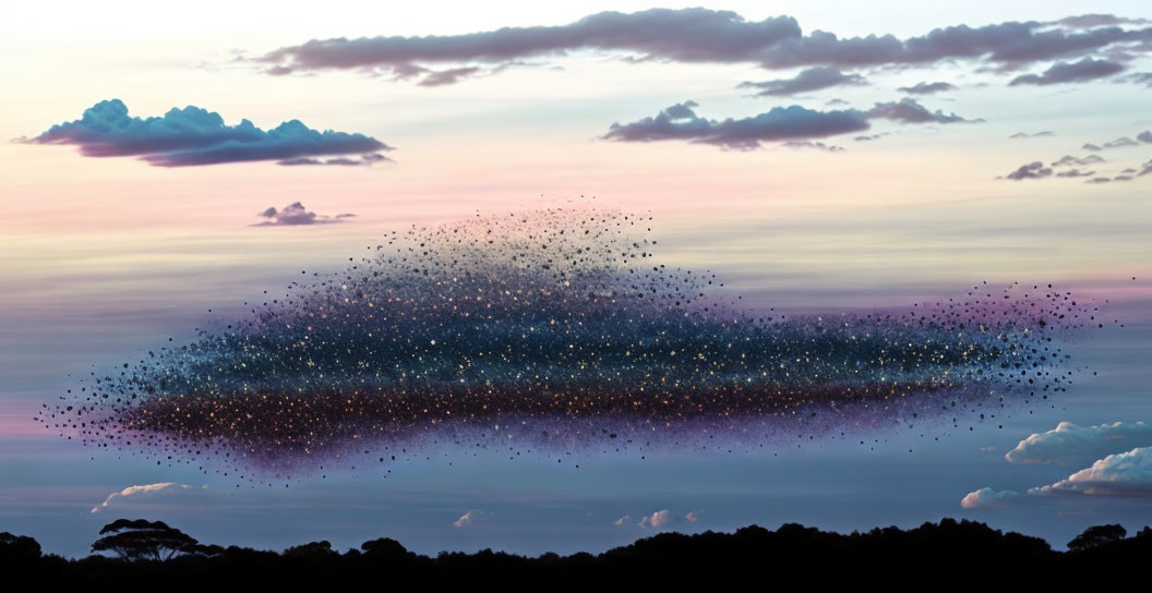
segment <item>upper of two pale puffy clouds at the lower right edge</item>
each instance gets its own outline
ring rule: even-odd
[[[1152,425],[1113,423],[1076,426],[1063,421],[1055,428],[1034,433],[1005,454],[1013,463],[1086,463],[1132,447],[1152,447]]]

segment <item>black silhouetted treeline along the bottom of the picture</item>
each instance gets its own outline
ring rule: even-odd
[[[485,549],[425,556],[382,538],[338,552],[327,541],[282,553],[236,546],[204,546],[160,522],[120,519],[105,526],[92,555],[69,560],[44,554],[28,537],[0,533],[0,570],[37,587],[131,584],[189,586],[387,586],[539,584],[568,588],[621,580],[684,584],[752,583],[766,588],[827,583],[935,587],[995,586],[1005,580],[1067,584],[1092,576],[1139,580],[1152,561],[1152,529],[1132,537],[1120,525],[1086,530],[1056,552],[1043,539],[1003,533],[983,523],[942,519],[911,530],[873,529],[840,534],[786,524],[775,531],[748,526],[734,533],[661,533],[601,554],[547,553],[526,557]],[[751,580],[748,580],[751,579]],[[932,580],[922,580],[932,579]],[[1105,581],[1100,583],[1101,586]]]

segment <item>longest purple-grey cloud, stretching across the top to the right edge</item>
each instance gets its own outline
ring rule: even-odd
[[[396,77],[430,64],[480,67],[578,51],[622,53],[632,61],[755,63],[794,67],[859,68],[930,66],[970,60],[999,67],[1087,56],[1116,48],[1139,51],[1152,29],[1104,23],[1107,15],[1069,17],[1056,23],[1005,22],[955,25],[900,39],[893,35],[840,38],[808,35],[790,16],[746,21],[736,13],[706,8],[653,8],[602,12],[556,26],[505,26],[446,36],[332,38],[280,47],[256,61],[268,74],[329,69],[388,71]],[[1119,17],[1112,17],[1119,18]],[[1085,23],[1093,23],[1085,29]],[[1055,24],[1055,26],[1053,26]]]

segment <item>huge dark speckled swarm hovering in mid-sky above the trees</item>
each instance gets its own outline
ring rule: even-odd
[[[1094,303],[1051,284],[756,312],[715,296],[714,274],[659,263],[651,220],[574,207],[393,231],[189,343],[93,371],[37,419],[157,463],[281,477],[432,442],[560,461],[911,418],[958,427],[1066,389],[1061,337],[1104,327]]]

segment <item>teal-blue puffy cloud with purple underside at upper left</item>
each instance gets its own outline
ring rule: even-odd
[[[214,112],[173,107],[159,117],[134,117],[120,99],[100,101],[79,120],[58,123],[24,139],[30,144],[79,146],[85,157],[138,157],[158,167],[185,167],[279,160],[331,154],[366,154],[392,150],[362,134],[318,131],[298,120],[262,130],[248,120],[226,126]]]

